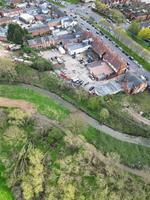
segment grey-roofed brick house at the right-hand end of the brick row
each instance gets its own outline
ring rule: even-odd
[[[147,88],[147,81],[132,72],[126,72],[123,80],[123,88],[127,94],[137,94]]]

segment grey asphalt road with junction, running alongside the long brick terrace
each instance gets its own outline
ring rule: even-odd
[[[82,19],[82,16],[92,17],[95,22],[99,23],[100,19],[103,19],[102,16],[98,15],[97,13],[93,12],[91,8],[88,7],[88,4],[82,4],[79,6],[78,4],[69,4],[65,3],[65,8],[59,8],[62,11],[65,11],[68,16],[77,16],[76,20],[78,24],[84,29],[89,29],[91,32],[95,33],[100,39],[104,41],[104,43],[112,49],[115,53],[120,55],[122,59],[124,59],[129,64],[129,69],[140,76],[144,76],[150,81],[150,73],[146,71],[143,67],[141,67],[136,61],[131,60],[128,55],[126,55],[120,47],[117,47],[113,41],[110,41],[105,35],[102,35],[99,30],[94,28],[91,24],[87,21]],[[110,30],[111,31],[111,30]]]

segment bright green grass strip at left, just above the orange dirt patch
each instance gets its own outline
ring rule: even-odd
[[[69,114],[67,109],[60,106],[50,98],[21,86],[1,85],[0,96],[12,99],[23,99],[31,102],[36,106],[37,110],[41,114],[55,120],[61,121]]]

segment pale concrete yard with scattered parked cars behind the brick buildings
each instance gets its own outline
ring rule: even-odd
[[[62,64],[64,65],[60,64],[59,67],[54,70],[58,74],[58,76],[66,80],[70,80],[73,87],[80,86],[86,91],[94,93],[95,88],[98,89],[105,85],[105,88],[109,91],[109,93],[114,92],[111,85],[114,85],[115,79],[96,81],[93,77],[90,76],[89,70],[86,66],[86,53],[78,54],[74,58],[68,54],[61,54],[57,49],[52,49],[41,51],[40,55],[43,58],[53,62],[53,64],[59,64],[59,61],[62,61]],[[119,87],[119,84],[117,87]],[[121,87],[119,89],[117,88],[116,91],[121,91]]]

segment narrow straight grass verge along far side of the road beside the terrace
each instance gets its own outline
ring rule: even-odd
[[[104,28],[99,26],[97,23],[93,23],[93,25],[98,28],[100,31],[102,31],[105,35],[107,35],[110,39],[112,39],[116,44],[118,44],[127,54],[132,56],[135,60],[138,61],[139,64],[141,64],[146,70],[150,71],[150,63],[147,62],[144,58],[140,57],[137,53],[132,51],[129,47],[127,47],[125,44],[123,44],[121,41],[116,39],[112,34],[110,34],[108,31],[106,31]]]

